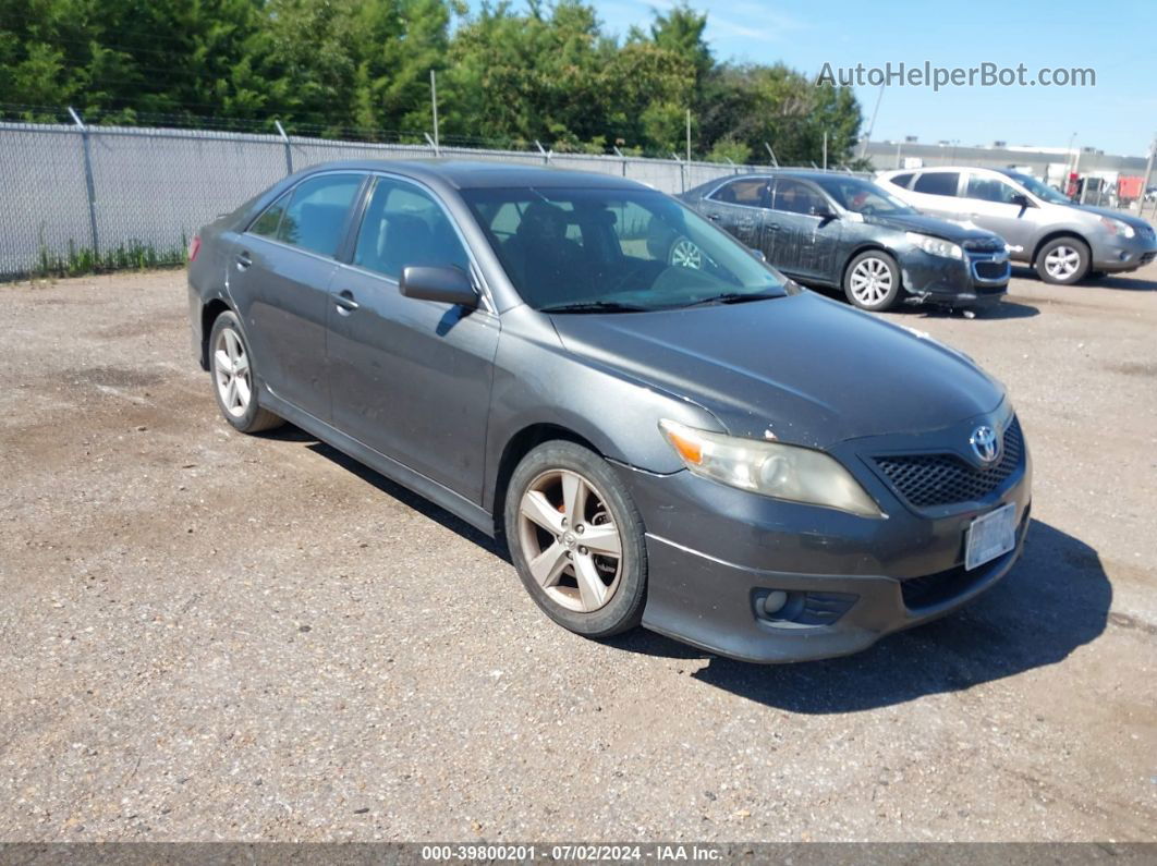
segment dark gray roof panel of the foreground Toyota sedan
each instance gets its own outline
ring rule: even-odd
[[[646,184],[598,171],[576,171],[546,165],[519,165],[484,160],[352,160],[312,165],[308,173],[347,169],[354,171],[389,171],[395,175],[443,185],[454,190],[501,187],[598,186],[611,190],[650,190]],[[307,173],[307,172],[303,172]]]

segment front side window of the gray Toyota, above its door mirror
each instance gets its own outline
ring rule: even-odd
[[[450,217],[425,190],[378,178],[354,247],[354,264],[398,280],[411,265],[470,271]]]

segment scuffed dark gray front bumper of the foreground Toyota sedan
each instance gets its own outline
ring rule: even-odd
[[[961,508],[909,508],[883,480],[857,472],[882,519],[771,499],[688,472],[621,472],[648,530],[643,626],[756,663],[857,652],[958,608],[1012,568],[1031,510],[1027,452],[989,501]],[[966,571],[967,526],[1007,503],[1016,505],[1016,547]],[[803,613],[768,619],[759,606],[769,592],[788,593]]]

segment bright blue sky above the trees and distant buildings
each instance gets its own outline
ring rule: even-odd
[[[625,35],[670,0],[595,0],[606,29]],[[1157,133],[1157,1],[692,0],[708,13],[716,58],[782,60],[816,75],[833,67],[904,61],[971,67],[983,61],[1030,75],[1040,67],[1092,67],[1096,87],[887,87],[872,140],[1067,147],[1142,156]],[[856,88],[871,120],[879,88]]]

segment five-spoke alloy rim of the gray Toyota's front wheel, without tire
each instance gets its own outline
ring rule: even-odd
[[[518,505],[518,536],[535,580],[568,610],[592,613],[622,577],[622,539],[606,499],[569,469],[539,474]]]

